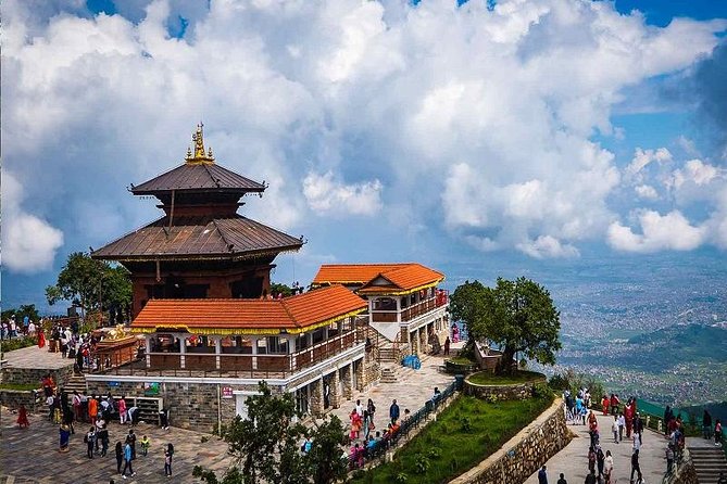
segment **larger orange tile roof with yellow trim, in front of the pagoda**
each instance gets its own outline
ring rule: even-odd
[[[151,300],[131,323],[131,330],[153,332],[158,328],[180,328],[197,334],[277,334],[280,330],[300,333],[365,308],[366,302],[342,285],[283,300]]]

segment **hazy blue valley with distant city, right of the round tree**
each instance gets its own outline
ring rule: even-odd
[[[700,254],[642,257],[638,265],[629,258],[543,263],[522,272],[544,284],[561,310],[563,349],[543,371],[573,368],[610,392],[661,405],[726,400],[725,267]],[[465,270],[487,284],[519,275],[472,265],[450,270],[453,286],[476,278],[457,277]]]

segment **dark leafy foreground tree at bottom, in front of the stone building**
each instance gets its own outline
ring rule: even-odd
[[[334,417],[315,429],[306,429],[296,417],[292,394],[273,395],[265,382],[260,394],[248,397],[248,418],[239,416],[224,432],[228,453],[237,458],[222,477],[208,469],[195,467],[192,475],[209,484],[329,484],[346,475],[346,462],[340,458],[343,425]],[[303,454],[303,437],[313,438],[311,451]]]

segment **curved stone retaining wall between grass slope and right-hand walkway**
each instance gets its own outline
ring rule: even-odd
[[[497,453],[450,484],[500,484],[525,482],[568,442],[565,404],[557,398],[548,410],[511,438]]]

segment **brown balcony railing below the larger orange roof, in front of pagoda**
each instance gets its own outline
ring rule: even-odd
[[[285,378],[291,373],[325,361],[356,344],[355,331],[325,340],[292,354],[274,355],[251,353],[150,353],[149,367],[145,359],[131,365],[112,368],[113,374],[165,374],[209,377],[211,374],[237,378]],[[211,348],[214,349],[214,348]],[[181,357],[185,367],[181,368]]]

